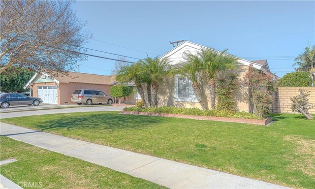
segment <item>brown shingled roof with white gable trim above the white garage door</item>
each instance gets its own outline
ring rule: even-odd
[[[115,75],[97,75],[91,73],[78,73],[67,72],[67,75],[59,73],[58,76],[51,77],[47,73],[43,72],[42,75],[52,79],[55,83],[88,83],[88,84],[100,84],[100,85],[113,85],[116,81]],[[24,86],[27,88],[35,79],[35,74],[32,79]]]

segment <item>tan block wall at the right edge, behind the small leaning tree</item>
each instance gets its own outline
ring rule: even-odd
[[[300,95],[299,89],[310,91],[311,94],[308,96],[308,99],[315,104],[315,87],[279,87],[278,93],[274,94],[272,111],[274,113],[292,113],[290,97]],[[315,114],[315,108],[309,111]]]

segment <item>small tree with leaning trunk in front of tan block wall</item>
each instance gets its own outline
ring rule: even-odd
[[[307,98],[310,95],[309,91],[304,89],[299,89],[300,95],[290,97],[291,110],[292,112],[299,112],[303,114],[307,119],[313,120],[312,114],[310,114],[309,109],[314,108],[315,105],[309,102]]]

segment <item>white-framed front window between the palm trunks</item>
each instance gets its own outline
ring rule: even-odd
[[[197,102],[192,82],[187,77],[175,77],[175,101]]]

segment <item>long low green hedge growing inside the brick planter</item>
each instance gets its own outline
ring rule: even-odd
[[[137,112],[152,112],[152,113],[164,113],[164,114],[182,114],[193,116],[213,116],[213,117],[226,117],[226,118],[244,118],[244,119],[256,119],[259,118],[251,113],[247,112],[231,112],[226,110],[201,110],[198,108],[178,108],[171,106],[164,107],[151,107],[151,108],[139,108],[139,107],[126,107],[126,111]]]

